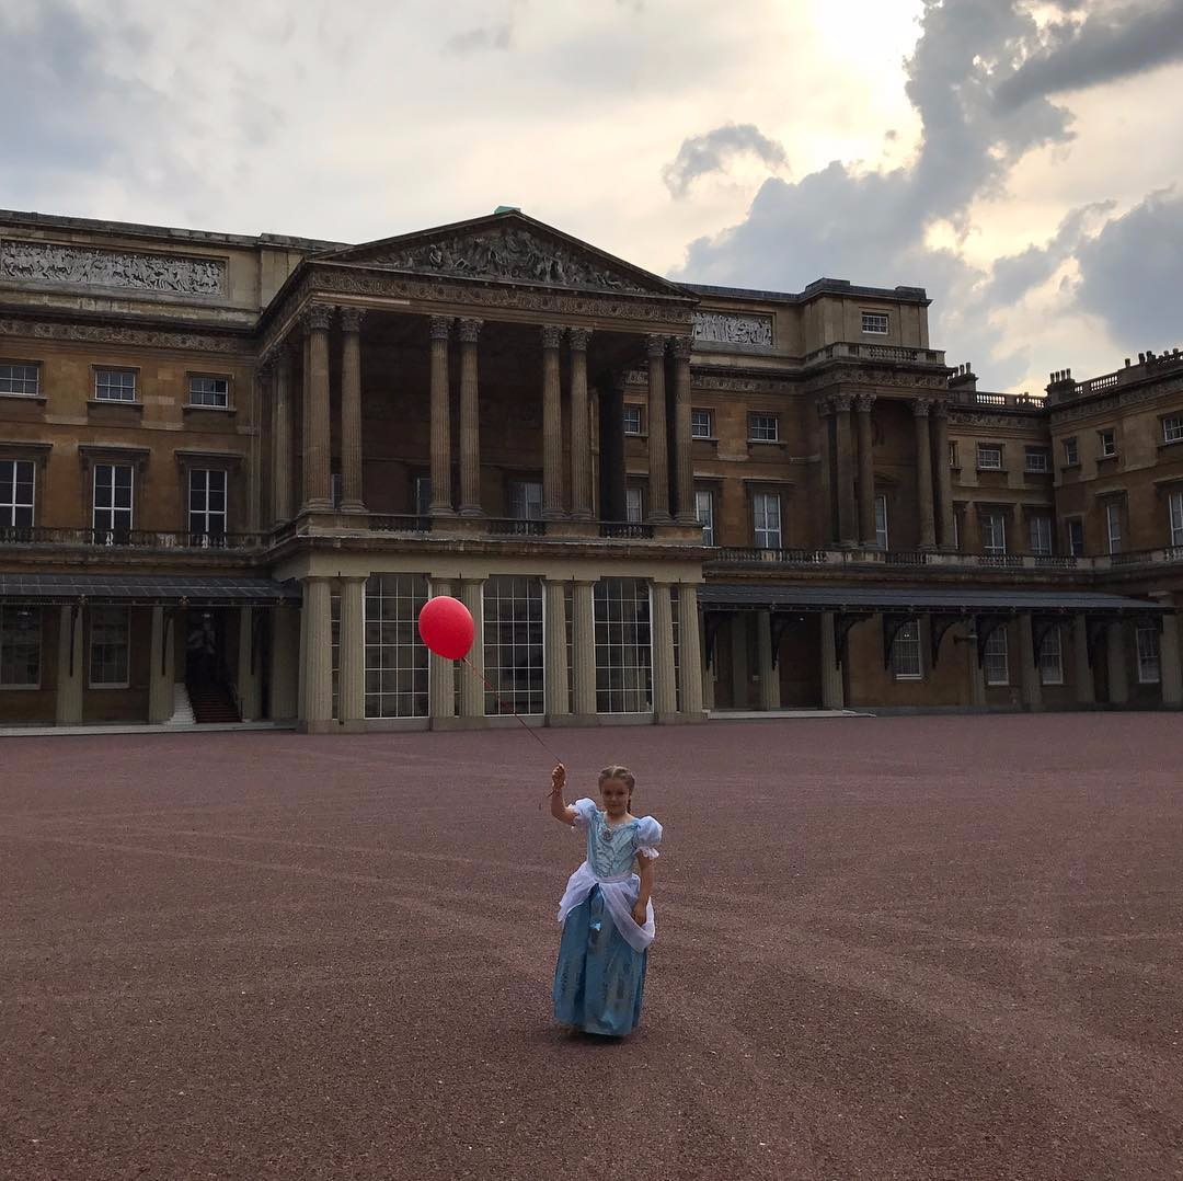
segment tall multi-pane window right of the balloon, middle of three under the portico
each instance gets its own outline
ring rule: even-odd
[[[493,575],[485,581],[485,714],[545,712],[542,580]]]

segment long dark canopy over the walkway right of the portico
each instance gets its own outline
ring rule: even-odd
[[[1024,590],[980,587],[833,587],[774,582],[709,582],[698,588],[704,611],[884,611],[894,614],[1146,615],[1172,612],[1150,599],[1093,590]]]

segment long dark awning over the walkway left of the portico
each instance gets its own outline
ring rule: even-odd
[[[0,602],[110,602],[190,607],[282,607],[300,601],[296,582],[182,574],[0,574]]]

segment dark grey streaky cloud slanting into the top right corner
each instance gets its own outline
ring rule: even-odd
[[[1079,24],[1053,25],[1046,47],[1000,83],[995,104],[1011,111],[1033,98],[1117,82],[1171,62],[1183,62],[1183,0],[1094,12]]]

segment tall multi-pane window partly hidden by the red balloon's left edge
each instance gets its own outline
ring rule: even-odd
[[[371,574],[366,580],[366,716],[427,716],[427,648],[419,612],[422,574]]]

